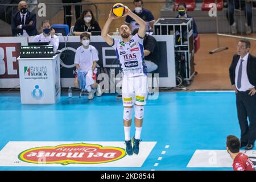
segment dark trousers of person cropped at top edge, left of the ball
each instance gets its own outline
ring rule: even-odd
[[[62,0],[63,3],[79,3],[82,0]],[[63,6],[64,7],[64,24],[67,24],[69,29],[71,27],[71,6]],[[81,15],[82,6],[75,6],[76,10],[76,19],[78,19]]]

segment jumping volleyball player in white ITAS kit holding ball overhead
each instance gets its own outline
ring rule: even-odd
[[[138,24],[138,34],[131,36],[131,30],[126,24],[119,27],[122,39],[113,39],[108,34],[110,24],[114,19],[123,16],[131,16]],[[127,6],[117,3],[109,13],[104,28],[101,31],[102,38],[115,49],[116,56],[121,63],[123,72],[122,101],[123,101],[123,126],[125,130],[125,144],[127,155],[139,154],[141,142],[144,105],[147,97],[147,67],[144,64],[143,38],[146,34],[146,22],[135,15]],[[130,138],[131,120],[135,121],[135,136]]]

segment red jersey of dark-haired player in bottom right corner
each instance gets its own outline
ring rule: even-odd
[[[233,162],[234,171],[255,171],[253,162],[247,155],[239,153]]]

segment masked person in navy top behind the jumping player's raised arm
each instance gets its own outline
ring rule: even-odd
[[[155,18],[152,15],[151,11],[147,9],[143,9],[142,0],[134,0],[133,4],[135,6],[133,13],[137,14],[140,18],[142,18],[147,23],[147,29],[146,29],[147,34],[152,34],[154,29]],[[131,32],[133,32],[135,28],[139,28],[139,24],[130,16],[126,16],[125,23],[130,26]]]

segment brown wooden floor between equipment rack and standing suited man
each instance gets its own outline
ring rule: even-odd
[[[250,35],[256,38],[255,34]],[[234,53],[238,38],[218,36],[220,47],[228,47],[228,50],[209,54],[217,47],[216,34],[200,34],[200,49],[195,54],[195,69],[198,74],[189,86],[193,90],[228,90],[231,89],[229,81],[229,66]],[[256,56],[256,42],[251,40],[250,53]]]

